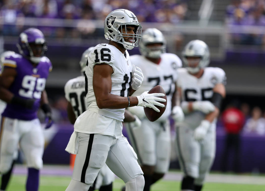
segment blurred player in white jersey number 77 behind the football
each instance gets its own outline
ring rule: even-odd
[[[166,53],[166,40],[161,31],[149,28],[142,34],[139,46],[141,55],[131,56],[131,63],[142,69],[144,81],[135,92],[140,95],[156,85],[161,85],[166,92],[167,106],[164,114],[155,122],[150,122],[142,107],[128,110],[142,121],[142,127],[130,128],[127,132],[138,155],[138,161],[144,172],[144,191],[149,191],[151,184],[161,179],[169,169],[170,163],[170,124],[169,116],[176,105],[177,68],[182,67],[180,58]],[[180,107],[177,106],[179,109]],[[182,110],[180,109],[182,112]],[[184,114],[182,112],[183,119]]]

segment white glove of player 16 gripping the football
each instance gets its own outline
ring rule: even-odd
[[[160,112],[160,110],[155,105],[161,108],[165,107],[164,104],[157,102],[157,101],[166,102],[166,100],[164,98],[161,98],[161,96],[165,96],[165,94],[161,93],[148,94],[148,91],[145,91],[141,95],[136,96],[138,99],[137,106],[142,106],[144,108],[145,107],[152,108],[156,112]]]

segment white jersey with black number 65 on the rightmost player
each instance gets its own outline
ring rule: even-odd
[[[218,83],[226,83],[226,73],[221,68],[206,67],[200,78],[188,73],[186,68],[178,69],[177,85],[182,90],[183,101],[210,101],[213,96],[213,88]],[[200,111],[193,111],[185,115],[184,124],[196,128],[200,125],[205,114]],[[215,128],[216,120],[213,121],[212,127]]]

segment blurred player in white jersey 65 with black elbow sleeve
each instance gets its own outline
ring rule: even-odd
[[[215,128],[222,99],[226,95],[226,74],[207,67],[208,46],[192,40],[182,52],[185,68],[179,68],[178,89],[185,119],[176,127],[180,166],[184,172],[181,190],[200,191],[215,156]]]

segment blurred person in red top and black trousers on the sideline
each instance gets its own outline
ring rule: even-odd
[[[233,100],[222,114],[222,121],[224,124],[226,138],[222,160],[222,171],[227,171],[227,164],[229,154],[234,153],[233,171],[240,171],[240,132],[245,123],[244,113],[239,110],[239,101]]]

